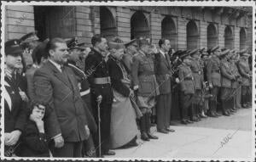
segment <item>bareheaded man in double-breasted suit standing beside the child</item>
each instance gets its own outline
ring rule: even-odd
[[[65,66],[67,44],[61,38],[46,45],[49,61],[34,75],[38,102],[46,109],[46,134],[53,139],[50,145],[55,157],[81,157],[82,142],[90,136],[84,115],[84,102],[79,94],[73,70]],[[48,112],[47,112],[48,111]]]

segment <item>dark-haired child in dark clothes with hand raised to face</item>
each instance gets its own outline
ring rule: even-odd
[[[34,104],[21,137],[21,157],[49,157],[48,142],[44,134],[45,106]]]

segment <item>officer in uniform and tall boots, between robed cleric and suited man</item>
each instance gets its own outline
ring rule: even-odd
[[[158,84],[154,75],[154,59],[150,53],[150,44],[146,39],[138,40],[139,50],[132,58],[131,76],[133,89],[137,91],[137,104],[143,113],[140,120],[141,138],[144,141],[158,139],[150,132],[150,114],[155,97],[159,95]]]

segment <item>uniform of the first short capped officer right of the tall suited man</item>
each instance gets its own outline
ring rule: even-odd
[[[189,120],[188,110],[192,111],[191,104],[193,95],[195,93],[195,83],[193,81],[193,74],[187,64],[180,64],[178,66],[178,79],[180,80],[180,99],[182,107],[182,120]]]

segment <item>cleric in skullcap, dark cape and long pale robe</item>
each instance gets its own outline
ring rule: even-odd
[[[125,66],[120,62],[124,56],[124,42],[116,37],[108,46],[110,56],[107,64],[114,97],[110,125],[111,148],[137,146],[136,112],[131,104],[134,93]]]

